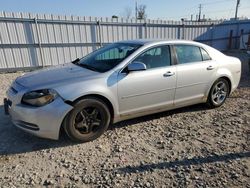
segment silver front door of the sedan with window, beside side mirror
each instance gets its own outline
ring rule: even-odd
[[[172,107],[176,66],[171,66],[169,46],[150,48],[134,61],[144,63],[147,70],[121,72],[118,75],[120,114],[130,115]]]

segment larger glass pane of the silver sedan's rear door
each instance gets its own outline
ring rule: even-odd
[[[179,64],[202,61],[200,48],[192,45],[175,45]]]

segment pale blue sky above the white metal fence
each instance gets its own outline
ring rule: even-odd
[[[201,14],[211,19],[234,17],[237,0],[0,0],[0,11],[31,12],[56,15],[94,17],[126,16],[126,9],[135,14],[135,2],[146,5],[148,19],[180,20]],[[250,18],[250,0],[241,0],[238,16]]]

